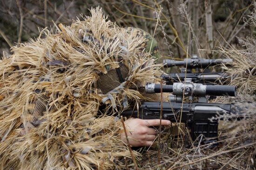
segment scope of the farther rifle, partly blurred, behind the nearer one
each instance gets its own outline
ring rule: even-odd
[[[164,59],[164,67],[183,66],[187,68],[206,68],[208,66],[214,66],[219,64],[230,64],[233,59],[204,59],[204,58],[185,58],[183,61]]]

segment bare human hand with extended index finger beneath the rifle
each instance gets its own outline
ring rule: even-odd
[[[169,120],[162,120],[162,125],[170,125]],[[155,129],[149,126],[160,126],[160,120],[142,120],[129,118],[125,121],[128,140],[131,146],[150,146],[155,140]],[[121,134],[121,140],[127,143],[125,133]]]

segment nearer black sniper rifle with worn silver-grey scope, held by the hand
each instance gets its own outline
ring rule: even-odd
[[[173,93],[169,95],[168,102],[143,102],[139,110],[125,110],[121,115],[140,119],[170,120],[172,123],[185,123],[190,131],[191,138],[195,140],[199,135],[204,136],[204,143],[214,142],[218,137],[218,115],[235,114],[239,117],[237,104],[208,103],[206,95],[236,95],[236,86],[203,85],[193,83],[187,79],[185,83],[175,82],[173,85],[148,83],[146,93]],[[182,96],[188,96],[192,101],[198,96],[197,102],[182,102]],[[162,105],[162,106],[161,106]]]

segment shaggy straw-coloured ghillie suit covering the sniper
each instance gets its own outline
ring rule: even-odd
[[[92,9],[0,61],[0,169],[119,169],[130,157],[111,114],[147,100],[136,87],[161,71],[142,36],[106,19]]]

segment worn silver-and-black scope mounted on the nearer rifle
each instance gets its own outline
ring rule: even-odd
[[[161,85],[148,83],[145,87],[146,93],[161,93]],[[173,93],[174,95],[182,96],[184,91],[185,96],[236,96],[236,86],[226,85],[203,85],[200,83],[180,83],[175,82],[173,85],[162,85],[163,93]]]

